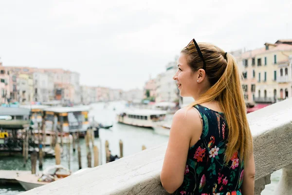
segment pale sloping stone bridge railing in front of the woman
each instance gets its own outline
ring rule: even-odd
[[[255,195],[282,169],[276,195],[292,194],[292,99],[247,115],[254,137]],[[166,143],[95,167],[22,195],[167,195],[161,186]]]

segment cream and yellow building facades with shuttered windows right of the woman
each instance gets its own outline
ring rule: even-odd
[[[237,58],[247,102],[274,103],[292,97],[289,67],[292,44],[287,43],[265,43],[264,47],[244,52]]]

